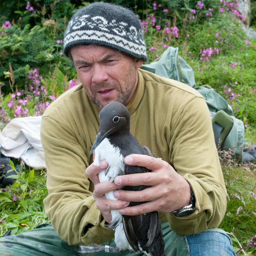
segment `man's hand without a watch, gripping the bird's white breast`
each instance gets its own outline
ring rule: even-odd
[[[94,152],[93,152],[93,160],[94,160]],[[86,168],[86,175],[94,184],[93,197],[96,201],[96,207],[100,210],[103,218],[111,223],[112,216],[111,210],[119,210],[126,207],[130,202],[123,200],[109,200],[106,198],[105,194],[123,187],[123,185],[116,185],[114,182],[102,182],[99,180],[99,172],[105,170],[108,167],[108,163],[106,161],[100,161],[100,166],[94,166],[92,163],[88,168]]]

